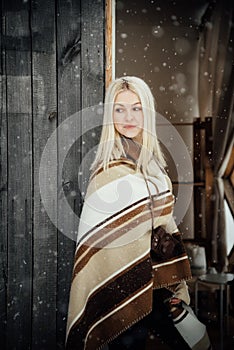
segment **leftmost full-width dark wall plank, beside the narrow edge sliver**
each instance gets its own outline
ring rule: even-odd
[[[8,118],[7,349],[31,344],[32,105],[29,4],[5,12],[5,34],[22,39],[6,50]]]

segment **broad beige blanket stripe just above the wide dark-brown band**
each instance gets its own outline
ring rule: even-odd
[[[136,263],[149,252],[145,236],[121,249],[101,249],[73,280],[70,293],[68,330],[82,314],[88,297],[115,275]],[[115,262],[113,264],[113,261]]]

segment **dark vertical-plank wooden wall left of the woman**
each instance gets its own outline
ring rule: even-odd
[[[44,210],[39,166],[56,128],[103,101],[104,16],[103,0],[1,2],[1,349],[64,348],[74,241]],[[58,183],[76,212],[80,143]]]

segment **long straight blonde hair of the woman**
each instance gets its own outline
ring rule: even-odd
[[[95,170],[97,166],[106,169],[111,160],[118,159],[125,154],[120,134],[113,123],[114,102],[117,95],[125,90],[130,90],[139,97],[144,115],[142,148],[137,166],[147,172],[147,167],[152,157],[155,157],[162,167],[166,165],[156,135],[156,111],[152,92],[142,79],[126,76],[112,81],[106,91],[102,133],[96,157],[91,166],[92,170]]]

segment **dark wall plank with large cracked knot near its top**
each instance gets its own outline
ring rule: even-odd
[[[67,20],[69,18],[69,21]],[[69,302],[71,274],[74,261],[75,238],[78,228],[75,215],[79,213],[80,195],[77,175],[80,162],[80,139],[76,140],[80,130],[80,115],[74,113],[81,109],[81,16],[80,2],[76,0],[57,1],[57,55],[58,55],[58,123],[67,123],[66,130],[58,129],[59,172],[58,186],[66,196],[71,208],[67,214],[66,206],[59,203],[59,216],[64,224],[64,233],[58,234],[58,283],[57,283],[57,346],[63,348]],[[72,124],[69,120],[73,121]],[[71,127],[73,125],[73,127]],[[76,133],[77,131],[77,133]],[[64,144],[72,146],[62,165]],[[61,193],[61,192],[60,192]]]

